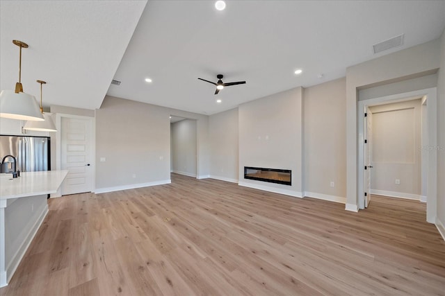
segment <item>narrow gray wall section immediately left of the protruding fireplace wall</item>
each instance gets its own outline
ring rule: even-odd
[[[238,108],[209,116],[210,176],[238,182]]]

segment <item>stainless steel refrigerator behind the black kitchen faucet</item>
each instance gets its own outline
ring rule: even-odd
[[[50,143],[49,137],[0,135],[0,157],[13,155],[20,172],[51,171]]]

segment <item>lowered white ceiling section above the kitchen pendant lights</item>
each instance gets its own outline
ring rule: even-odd
[[[147,1],[0,1],[0,86],[14,89],[22,49],[24,92],[43,104],[102,104]]]

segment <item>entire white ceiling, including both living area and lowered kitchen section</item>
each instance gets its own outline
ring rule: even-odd
[[[341,78],[346,67],[434,40],[445,27],[445,1],[226,2],[220,12],[214,1],[1,1],[1,89],[17,81],[18,39],[30,45],[24,90],[38,95],[35,80],[47,80],[45,105],[95,109],[108,94],[215,114]],[[373,44],[402,33],[403,46],[373,54]],[[215,96],[197,80],[216,82],[219,73],[247,83]]]

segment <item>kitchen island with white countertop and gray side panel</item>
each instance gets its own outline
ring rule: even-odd
[[[6,286],[48,213],[68,171],[0,174],[0,287]]]

